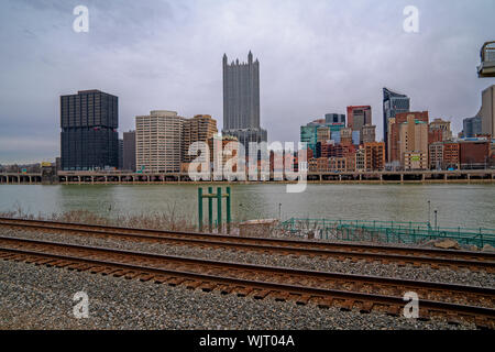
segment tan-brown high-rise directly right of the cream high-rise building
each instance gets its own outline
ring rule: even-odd
[[[217,120],[209,114],[197,114],[193,119],[184,120],[183,128],[183,162],[190,163],[197,156],[188,155],[189,145],[195,142],[208,143],[218,133]]]

